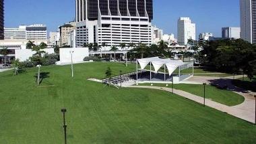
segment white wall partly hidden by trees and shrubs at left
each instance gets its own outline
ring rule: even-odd
[[[46,48],[44,49],[44,52],[48,54],[53,54],[54,49],[53,48]],[[19,59],[21,62],[24,62],[28,60],[33,54],[36,54],[36,52],[33,52],[30,49],[22,49],[22,50],[15,50],[15,58]]]

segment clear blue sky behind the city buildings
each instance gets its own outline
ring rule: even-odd
[[[153,25],[174,33],[179,17],[191,17],[197,35],[203,32],[221,37],[222,27],[239,27],[239,0],[153,0]],[[75,0],[5,0],[5,27],[42,23],[48,31],[75,18]]]

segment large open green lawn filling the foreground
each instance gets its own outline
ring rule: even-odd
[[[63,143],[61,108],[67,108],[68,143],[255,143],[256,127],[162,90],[108,88],[88,78],[133,71],[123,64],[43,66],[0,73],[0,143]]]

